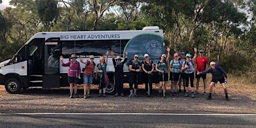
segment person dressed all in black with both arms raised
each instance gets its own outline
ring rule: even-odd
[[[114,59],[114,51],[111,51],[111,56],[112,56],[112,61],[113,61],[113,65],[114,65],[114,80],[115,80],[115,94],[114,96],[118,96],[118,94],[120,93],[121,96],[124,96],[123,94],[123,81],[124,81],[124,73],[123,73],[123,64],[127,61],[127,54],[128,51],[125,51],[125,58],[123,61],[122,58],[120,56],[116,56],[116,58]]]

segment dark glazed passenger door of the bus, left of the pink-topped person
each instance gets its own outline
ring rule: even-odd
[[[44,73],[42,75],[42,87],[60,87],[59,75],[59,38],[49,38],[44,42]]]

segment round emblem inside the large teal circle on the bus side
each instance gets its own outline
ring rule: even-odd
[[[156,40],[150,40],[146,43],[146,51],[150,54],[157,54],[161,50],[160,42]]]

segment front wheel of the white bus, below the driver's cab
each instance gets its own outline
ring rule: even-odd
[[[5,90],[11,94],[19,93],[21,88],[21,82],[16,78],[10,78],[5,82]]]

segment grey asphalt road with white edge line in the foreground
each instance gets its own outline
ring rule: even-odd
[[[0,127],[256,127],[256,114],[0,113]]]

